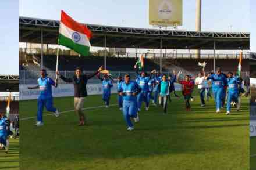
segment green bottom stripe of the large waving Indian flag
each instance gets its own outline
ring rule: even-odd
[[[89,55],[90,47],[77,44],[72,41],[72,39],[63,36],[62,34],[59,34],[59,45],[66,46],[67,48],[70,48],[75,52],[80,53],[82,56]]]

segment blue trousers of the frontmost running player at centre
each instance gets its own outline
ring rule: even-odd
[[[127,126],[133,127],[131,118],[137,117],[137,102],[123,100],[123,118],[126,121]]]

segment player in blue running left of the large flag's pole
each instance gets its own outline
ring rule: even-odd
[[[51,111],[54,113],[56,117],[59,116],[59,111],[53,106],[52,100],[52,86],[55,88],[58,86],[58,79],[54,81],[53,79],[47,77],[47,71],[42,69],[40,70],[41,77],[37,79],[38,85],[35,87],[28,87],[28,89],[39,89],[40,93],[37,99],[37,122],[36,126],[44,125],[42,121],[42,113],[44,111],[44,107],[46,107],[47,111]]]

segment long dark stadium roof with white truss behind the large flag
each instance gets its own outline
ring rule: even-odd
[[[20,17],[20,42],[57,44],[59,21]],[[86,24],[93,32],[92,46],[115,48],[159,49],[162,38],[163,49],[250,49],[250,34],[237,32],[195,32],[179,30],[157,30]]]

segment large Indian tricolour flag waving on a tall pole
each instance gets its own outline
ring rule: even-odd
[[[88,56],[90,50],[91,31],[84,25],[77,23],[63,10],[59,26],[59,45],[73,49],[82,56]]]

